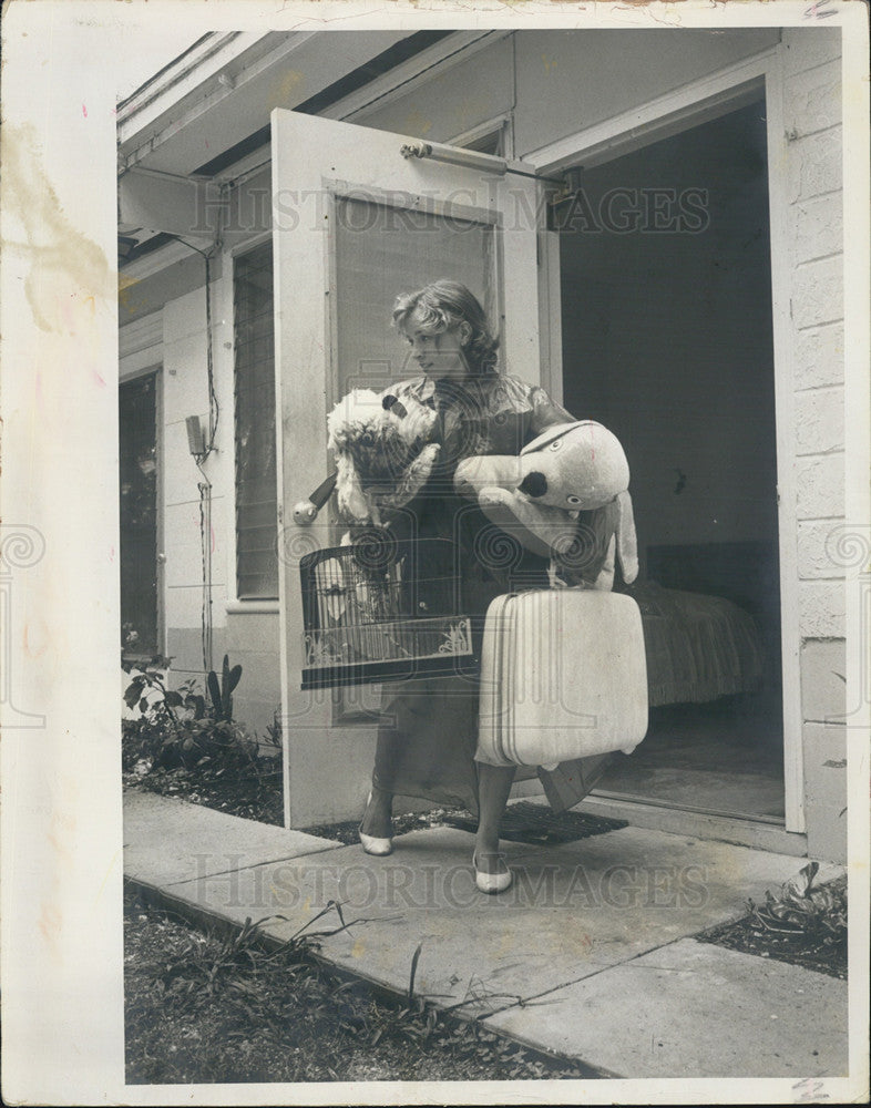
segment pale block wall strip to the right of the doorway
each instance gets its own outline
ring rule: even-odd
[[[840,31],[783,32],[787,237],[805,817],[811,856],[847,852],[843,176]],[[841,675],[841,676],[839,676]]]

